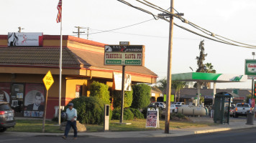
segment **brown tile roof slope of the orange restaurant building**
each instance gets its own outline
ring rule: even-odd
[[[56,47],[0,47],[0,66],[52,66],[58,67],[60,49]],[[63,69],[86,68],[96,70],[122,71],[122,66],[105,66],[104,54],[93,53],[82,49],[63,48]],[[157,77],[145,66],[126,66],[127,73]]]

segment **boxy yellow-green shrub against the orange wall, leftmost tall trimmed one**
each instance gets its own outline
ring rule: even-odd
[[[90,86],[90,97],[99,97],[106,104],[109,104],[110,103],[109,87],[106,84],[93,81],[93,83],[91,83],[91,86]]]

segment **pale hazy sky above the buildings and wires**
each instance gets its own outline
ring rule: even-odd
[[[147,9],[154,14],[160,11],[127,0],[134,6]],[[152,4],[170,8],[170,0],[148,0]],[[43,32],[43,34],[60,34],[60,23],[56,22],[58,0],[0,0],[0,34],[18,31]],[[256,1],[254,0],[174,0],[174,9],[184,13],[183,18],[235,41],[256,45]],[[150,20],[152,19],[152,20]],[[169,23],[162,19],[155,20],[150,14],[134,9],[116,0],[63,0],[63,34],[76,36],[74,26],[88,27],[82,31],[83,39],[98,41],[104,44],[119,44],[119,41],[130,41],[130,44],[145,45],[145,66],[158,75],[158,79],[167,77]],[[150,21],[148,21],[150,20]],[[142,24],[138,24],[146,21]],[[174,22],[196,31],[192,26],[179,19]],[[130,26],[136,24],[134,26]],[[124,26],[127,26],[123,29]],[[118,29],[109,32],[101,32]],[[204,37],[191,34],[177,26],[173,27],[172,74],[196,71],[198,45],[204,40],[207,54],[205,63],[214,66],[216,73],[244,74],[244,60],[252,59],[255,49],[230,46]],[[256,57],[255,57],[256,58]],[[216,84],[217,88],[250,89],[252,81],[244,83]]]

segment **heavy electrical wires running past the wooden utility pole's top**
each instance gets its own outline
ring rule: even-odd
[[[122,3],[124,3],[124,4],[127,4],[128,6],[136,7],[136,9],[140,9],[141,11],[146,11],[145,9],[142,9],[142,8],[140,8],[140,7],[133,6],[132,4],[129,4],[127,1],[124,1],[124,0],[117,0],[117,1],[120,1],[120,2],[122,2]],[[155,4],[152,4],[152,3],[150,3],[150,2],[148,2],[148,1],[146,1],[146,0],[143,0],[143,1],[145,1],[145,2],[142,2],[142,1],[140,1],[140,0],[136,0],[136,1],[138,1],[138,2],[140,2],[140,3],[142,3],[142,4],[145,4],[145,2],[146,2],[146,3],[147,3],[147,4],[145,4],[146,6],[150,6],[150,5],[151,5],[150,7],[153,8],[153,9],[157,9],[158,11],[162,11],[163,13],[167,13],[167,14],[170,14],[171,16],[175,16],[176,18],[180,19],[180,20],[183,21],[184,23],[189,24],[189,25],[193,26],[194,28],[196,28],[196,29],[198,29],[198,30],[204,32],[204,34],[207,34],[207,35],[209,35],[209,36],[213,36],[215,39],[212,39],[212,38],[210,38],[210,37],[208,37],[208,36],[204,36],[204,35],[202,35],[202,34],[198,34],[198,33],[195,32],[195,31],[192,31],[192,30],[190,30],[190,29],[187,29],[187,28],[185,28],[185,27],[183,27],[183,26],[179,26],[178,24],[175,24],[175,23],[174,23],[175,26],[178,26],[178,27],[181,28],[181,29],[185,29],[186,31],[189,31],[189,32],[191,32],[191,33],[193,33],[193,34],[196,34],[196,35],[198,35],[198,36],[203,36],[203,37],[206,38],[206,39],[211,39],[211,40],[213,40],[213,41],[218,41],[218,42],[223,43],[223,44],[229,44],[229,45],[233,45],[233,46],[242,46],[242,47],[250,48],[250,49],[255,49],[255,48],[256,48],[256,46],[254,46],[254,45],[243,44],[243,43],[238,42],[238,41],[234,41],[234,40],[231,40],[231,39],[227,39],[227,38],[225,38],[224,36],[216,35],[216,34],[214,34],[213,32],[208,31],[208,30],[202,28],[201,26],[197,26],[196,24],[193,24],[192,22],[190,22],[190,21],[184,19],[183,17],[178,16],[177,14],[172,14],[172,13],[170,13],[170,11],[166,11],[165,9],[160,8],[160,6],[156,6]],[[150,4],[150,5],[149,5],[149,4]],[[154,7],[154,6],[155,6],[155,7]],[[165,20],[165,21],[170,22],[168,19],[165,19],[164,16],[157,16],[157,15],[155,15],[155,14],[152,14],[150,11],[147,11],[146,13],[147,13],[147,14],[151,14],[152,16],[154,16],[154,18],[155,18],[155,17],[158,17],[159,19],[163,19],[163,20]],[[223,38],[223,39],[219,39],[219,38],[216,37],[216,36],[219,36],[219,37],[221,37],[221,38]],[[216,40],[216,39],[218,39],[218,40]],[[231,42],[229,42],[229,41],[225,41],[224,39],[227,39],[227,40],[229,40],[229,41],[233,41],[233,42],[238,43],[238,44],[247,45],[247,46],[238,45],[238,44],[233,44],[233,43],[231,43]]]

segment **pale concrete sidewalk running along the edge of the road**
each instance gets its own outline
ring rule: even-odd
[[[170,134],[165,134],[163,130],[155,131],[140,131],[140,132],[78,132],[78,137],[104,137],[104,138],[129,138],[129,137],[178,137],[190,134],[204,134],[210,132],[228,131],[231,129],[245,129],[256,127],[247,125],[246,122],[230,122],[229,124],[220,124],[214,127],[195,127],[188,129],[170,129]],[[58,133],[28,133],[28,132],[6,132],[6,134],[15,134],[19,137],[37,137],[37,136],[52,136],[60,137],[63,134]],[[73,133],[69,134],[70,137]]]

